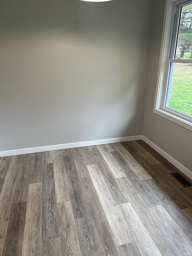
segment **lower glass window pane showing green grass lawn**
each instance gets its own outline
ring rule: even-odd
[[[192,116],[192,64],[171,63],[166,106]]]

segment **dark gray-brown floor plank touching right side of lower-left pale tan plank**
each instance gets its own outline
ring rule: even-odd
[[[42,239],[58,236],[58,216],[53,164],[42,168]]]

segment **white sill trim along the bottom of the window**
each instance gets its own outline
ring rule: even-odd
[[[174,122],[174,123],[186,128],[187,130],[192,131],[192,123],[188,122],[187,120],[184,120],[184,119],[182,119],[178,116],[175,116],[175,115],[173,115],[173,114],[171,114],[171,113],[169,113],[169,112],[167,112],[163,109],[155,109],[153,111],[153,113],[155,113],[159,116],[162,116],[162,117],[170,120],[171,122]]]

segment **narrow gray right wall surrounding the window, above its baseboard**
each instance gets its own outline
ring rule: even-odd
[[[192,171],[192,132],[153,113],[165,1],[155,1],[143,135]]]

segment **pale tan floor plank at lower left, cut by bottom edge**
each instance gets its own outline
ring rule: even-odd
[[[41,255],[41,200],[41,182],[29,184],[22,256]]]

